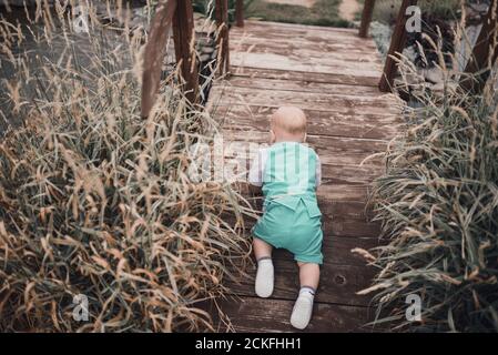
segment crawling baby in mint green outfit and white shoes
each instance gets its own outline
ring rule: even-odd
[[[316,201],[321,184],[318,155],[303,144],[306,115],[284,106],[271,116],[270,148],[261,150],[251,166],[248,181],[261,186],[265,197],[263,216],[253,229],[257,261],[255,291],[260,297],[273,293],[273,247],[294,254],[299,267],[301,290],[291,324],[303,329],[309,323],[322,264],[322,213]]]

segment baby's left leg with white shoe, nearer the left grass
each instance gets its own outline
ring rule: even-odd
[[[255,237],[253,241],[254,255],[257,261],[256,273],[256,295],[260,297],[270,297],[273,293],[273,263],[272,263],[272,245]]]

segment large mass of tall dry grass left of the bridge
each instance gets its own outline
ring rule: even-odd
[[[140,118],[143,31],[111,32],[90,11],[77,34],[64,4],[37,13],[24,31],[0,22],[14,73],[2,116],[21,122],[0,141],[0,329],[213,329],[204,303],[247,256],[240,195],[187,174],[217,123],[175,72]],[[28,37],[49,51],[24,51]],[[88,321],[73,317],[80,295]]]

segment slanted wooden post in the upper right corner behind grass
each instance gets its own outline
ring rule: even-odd
[[[482,91],[489,78],[490,69],[498,57],[498,0],[489,4],[488,13],[474,47],[472,54],[467,62],[460,87],[472,93]],[[492,51],[492,52],[491,52]]]

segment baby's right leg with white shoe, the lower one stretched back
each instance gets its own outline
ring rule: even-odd
[[[294,304],[291,316],[291,324],[304,329],[312,318],[313,301],[319,281],[319,266],[314,263],[297,263],[299,266],[299,296]]]

